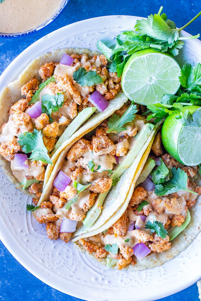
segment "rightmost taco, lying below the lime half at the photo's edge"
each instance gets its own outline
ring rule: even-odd
[[[165,153],[160,133],[151,144],[129,191],[125,187],[132,165],[128,175],[122,175],[118,191],[124,190],[127,196],[118,210],[93,231],[81,234],[78,230],[72,240],[109,268],[134,271],[162,265],[200,231],[198,166],[184,166]],[[109,206],[108,199],[104,206]]]

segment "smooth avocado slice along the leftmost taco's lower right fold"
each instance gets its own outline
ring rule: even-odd
[[[58,139],[55,144],[55,148],[51,154],[54,154],[58,148],[63,144],[67,139],[69,139],[79,128],[85,123],[87,119],[96,111],[95,107],[89,107],[82,110],[77,114],[75,119],[69,124],[69,126],[65,129],[61,137]]]

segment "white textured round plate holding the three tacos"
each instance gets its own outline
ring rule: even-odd
[[[115,42],[122,30],[131,30],[139,17],[106,16],[83,20],[48,34],[25,49],[0,77],[0,89],[17,78],[38,55],[56,48],[96,50],[97,40]],[[188,35],[187,33],[183,33]],[[201,61],[201,42],[190,40],[179,61]],[[52,241],[26,211],[31,200],[0,172],[0,238],[11,254],[33,275],[61,292],[90,301],[150,301],[176,293],[200,279],[201,234],[174,259],[158,268],[140,272],[108,269],[80,254],[72,244]]]

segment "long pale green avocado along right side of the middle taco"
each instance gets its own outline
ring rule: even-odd
[[[135,136],[135,144],[133,147],[128,151],[127,155],[125,156],[124,161],[119,164],[117,169],[111,174],[112,181],[117,181],[118,178],[124,173],[125,170],[133,163],[134,159],[139,154],[141,148],[145,144],[146,140],[148,139],[149,135],[151,134],[152,130],[154,129],[154,125],[151,123],[147,123],[139,133]],[[103,202],[109,193],[109,190],[105,193],[101,193],[96,198],[96,202],[93,207],[87,212],[85,219],[83,220],[83,225],[86,227],[91,227],[95,222],[96,219],[99,217],[102,211]]]

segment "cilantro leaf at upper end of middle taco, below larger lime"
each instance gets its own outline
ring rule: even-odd
[[[125,131],[127,129],[127,127],[123,127],[126,123],[133,121],[133,119],[135,118],[135,113],[137,112],[136,110],[136,105],[132,104],[130,105],[130,107],[126,110],[126,112],[119,117],[119,115],[117,114],[113,114],[109,120],[108,120],[108,130],[107,133],[110,132],[121,132],[121,131]]]

